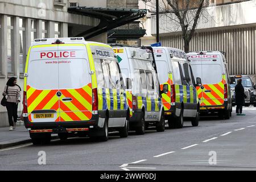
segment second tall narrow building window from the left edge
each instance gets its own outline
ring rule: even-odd
[[[21,75],[24,73],[26,65],[26,29],[25,20],[19,19],[19,72]]]

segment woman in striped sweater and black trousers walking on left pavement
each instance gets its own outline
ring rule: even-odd
[[[20,86],[16,84],[17,78],[11,77],[3,90],[3,96],[6,97],[6,109],[8,113],[10,131],[13,131],[16,127],[18,118],[18,104],[20,102]]]

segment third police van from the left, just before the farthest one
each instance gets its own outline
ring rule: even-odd
[[[165,118],[170,128],[183,127],[184,119],[192,126],[199,125],[199,99],[196,86],[200,77],[195,78],[184,51],[170,47],[154,47],[156,67],[161,88],[168,85],[168,92],[162,94]]]

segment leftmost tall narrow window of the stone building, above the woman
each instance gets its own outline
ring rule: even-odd
[[[14,75],[14,32],[13,17],[7,16],[7,72],[8,75]]]

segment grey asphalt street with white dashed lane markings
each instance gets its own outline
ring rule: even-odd
[[[255,170],[256,109],[245,107],[246,116],[237,116],[234,108],[230,120],[203,117],[198,127],[187,121],[183,129],[167,127],[163,133],[110,134],[108,142],[70,138],[5,148],[0,170]],[[39,151],[46,152],[46,165],[38,164]],[[216,163],[209,164],[213,154]]]

